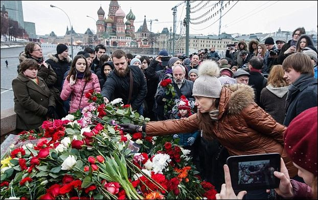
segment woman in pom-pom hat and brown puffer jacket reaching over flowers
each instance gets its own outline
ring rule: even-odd
[[[193,85],[198,113],[188,118],[148,122],[144,126],[122,124],[124,131],[143,131],[148,136],[202,131],[205,139],[217,139],[231,156],[279,153],[291,177],[297,169],[284,152],[286,127],[276,122],[254,102],[254,90],[244,84],[222,87],[214,61],[199,66]],[[266,193],[266,191],[265,191]]]

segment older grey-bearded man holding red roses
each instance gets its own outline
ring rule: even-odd
[[[178,105],[179,99],[181,95],[185,95],[187,99],[189,100],[189,104],[194,106],[194,98],[192,96],[192,87],[193,82],[186,80],[186,68],[182,65],[175,65],[172,66],[172,76],[173,76],[173,87],[174,87],[174,93],[175,95],[172,96],[171,94],[166,94],[166,88],[160,86],[155,94],[155,99],[158,105],[163,105],[167,101],[167,99],[172,99],[174,101],[174,105]],[[164,107],[160,107],[164,108]],[[160,120],[165,120],[169,118],[174,118],[174,116],[177,114],[178,109],[177,106],[174,106],[172,111],[167,111],[167,113],[164,113],[164,118],[161,118]],[[159,113],[162,113],[162,111],[159,111]]]

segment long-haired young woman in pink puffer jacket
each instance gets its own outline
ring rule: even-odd
[[[71,95],[70,113],[89,106],[89,99],[85,97],[88,90],[93,89],[95,92],[101,92],[98,77],[90,72],[87,65],[83,55],[75,56],[70,72],[64,81],[61,98],[65,101]]]

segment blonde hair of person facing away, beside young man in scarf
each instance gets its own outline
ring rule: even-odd
[[[284,79],[283,65],[274,65],[271,67],[267,85],[272,85],[275,88],[288,86],[287,81]]]

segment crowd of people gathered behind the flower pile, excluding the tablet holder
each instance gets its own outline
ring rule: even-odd
[[[202,179],[218,191],[232,155],[280,153],[289,176],[304,181],[283,136],[294,118],[317,106],[317,50],[310,37],[298,28],[287,43],[271,37],[264,44],[239,41],[225,55],[212,47],[166,62],[165,49],[155,58],[120,49],[106,55],[99,44],[72,60],[69,48],[58,44],[46,60],[41,45],[31,42],[12,81],[16,128],[37,129],[44,120],[83,109],[90,104],[85,93],[93,89],[105,103],[122,98],[150,118],[142,127],[122,124],[125,131],[178,139],[191,150]],[[257,197],[262,195],[246,195]]]

